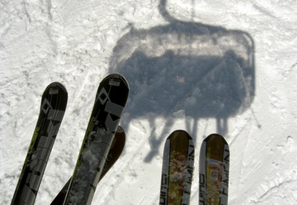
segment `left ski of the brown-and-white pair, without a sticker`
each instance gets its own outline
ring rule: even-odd
[[[194,150],[193,140],[184,130],[176,130],[166,139],[159,204],[189,204]]]

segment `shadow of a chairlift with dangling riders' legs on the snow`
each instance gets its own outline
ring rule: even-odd
[[[194,141],[201,118],[215,118],[214,132],[225,135],[228,118],[248,109],[255,95],[254,42],[247,32],[177,20],[167,12],[166,0],[159,11],[168,24],[132,28],[110,61],[110,72],[124,75],[130,86],[122,126],[146,119],[152,128],[145,162],[158,154],[176,118],[185,119]],[[156,136],[160,118],[165,126]]]

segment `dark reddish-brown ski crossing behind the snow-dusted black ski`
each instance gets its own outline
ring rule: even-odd
[[[113,166],[113,164],[119,159],[124,146],[125,146],[125,131],[121,126],[118,126],[116,130],[116,134],[114,135],[113,142],[111,144],[110,150],[108,152],[105,165],[102,169],[102,173],[100,176],[99,181],[103,178],[103,176],[108,172],[108,170]],[[58,193],[56,198],[52,201],[51,205],[62,205],[64,198],[67,194],[67,190],[70,184],[71,178],[68,182],[64,185],[61,191]]]

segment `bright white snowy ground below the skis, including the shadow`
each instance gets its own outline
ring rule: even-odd
[[[36,198],[72,175],[99,82],[130,85],[120,159],[92,204],[158,204],[165,139],[186,130],[230,145],[229,204],[297,204],[296,0],[2,0],[0,204],[10,204],[43,90],[68,105]]]

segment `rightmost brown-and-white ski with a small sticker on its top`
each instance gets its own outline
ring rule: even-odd
[[[227,205],[230,151],[226,140],[211,134],[201,144],[199,205]]]

